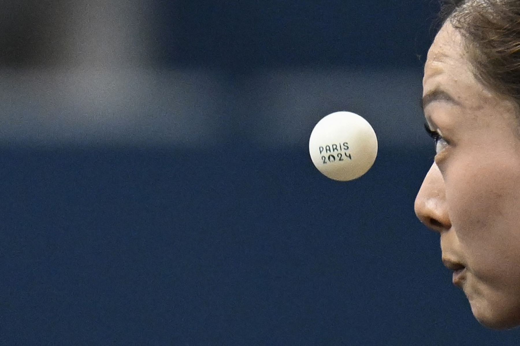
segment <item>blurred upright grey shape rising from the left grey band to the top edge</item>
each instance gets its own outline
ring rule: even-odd
[[[139,65],[153,60],[152,5],[149,0],[75,0],[67,18],[64,64]]]

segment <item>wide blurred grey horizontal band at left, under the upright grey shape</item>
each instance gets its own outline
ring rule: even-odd
[[[222,78],[200,70],[1,70],[4,145],[183,145],[222,140]]]

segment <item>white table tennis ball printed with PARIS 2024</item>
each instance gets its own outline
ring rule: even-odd
[[[314,165],[333,180],[349,181],[361,177],[378,155],[378,138],[361,116],[335,112],[322,118],[309,139]]]

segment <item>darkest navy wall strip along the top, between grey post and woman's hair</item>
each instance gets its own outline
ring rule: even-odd
[[[156,28],[160,56],[181,65],[418,66],[438,7],[431,0],[159,1]]]

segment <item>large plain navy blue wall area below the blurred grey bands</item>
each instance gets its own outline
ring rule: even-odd
[[[2,151],[0,344],[513,344],[415,219],[431,154]]]

